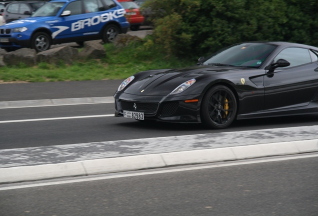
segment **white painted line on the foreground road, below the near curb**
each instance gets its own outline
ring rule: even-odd
[[[197,170],[197,169],[205,169],[205,168],[217,168],[217,167],[234,166],[234,165],[245,165],[245,164],[252,164],[252,163],[283,161],[283,160],[289,160],[289,159],[302,159],[302,158],[310,158],[310,157],[317,157],[317,156],[318,156],[318,154],[296,155],[296,156],[285,156],[285,157],[280,157],[280,158],[268,158],[268,159],[258,159],[258,160],[251,160],[251,161],[239,161],[239,162],[216,164],[216,165],[194,166],[194,167],[187,167],[187,168],[172,168],[172,169],[168,169],[168,170],[156,170],[156,171],[146,171],[146,172],[141,171],[141,172],[129,173],[129,174],[120,174],[120,173],[117,174],[117,173],[115,173],[115,174],[111,174],[111,175],[107,175],[107,176],[100,176],[100,177],[88,177],[88,178],[84,177],[82,179],[52,181],[52,182],[45,182],[45,183],[32,183],[32,184],[17,185],[17,186],[4,186],[4,187],[0,187],[0,190],[21,189],[21,188],[28,188],[28,187],[49,186],[49,185],[66,184],[66,183],[77,183],[77,182],[84,182],[84,181],[104,180],[104,179],[119,178],[119,177],[131,177],[131,176],[160,174],[160,173],[169,173],[169,172],[178,172],[178,171],[189,171],[189,170]]]

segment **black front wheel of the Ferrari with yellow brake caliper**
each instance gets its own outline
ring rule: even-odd
[[[201,104],[201,121],[206,126],[222,129],[236,116],[237,104],[233,92],[224,85],[215,85],[204,94]]]

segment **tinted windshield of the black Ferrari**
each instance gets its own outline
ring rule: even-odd
[[[259,68],[275,48],[276,45],[268,43],[235,44],[209,56],[202,64]]]

